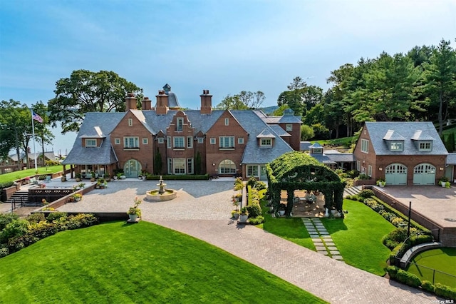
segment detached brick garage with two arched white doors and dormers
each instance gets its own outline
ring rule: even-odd
[[[435,185],[448,152],[430,122],[366,122],[356,143],[356,169],[387,185]]]

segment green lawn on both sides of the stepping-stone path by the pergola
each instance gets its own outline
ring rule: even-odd
[[[390,250],[382,244],[383,235],[395,227],[363,203],[344,200],[346,218],[322,218],[343,260],[375,275],[384,275]],[[266,213],[262,228],[293,243],[315,250],[301,218],[273,218]],[[259,226],[261,228],[261,226]]]

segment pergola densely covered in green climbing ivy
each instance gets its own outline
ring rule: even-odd
[[[325,208],[329,210],[336,208],[343,217],[343,188],[346,183],[315,158],[296,151],[285,153],[266,165],[266,173],[269,196],[276,215],[279,211],[282,190],[287,192],[285,211],[287,217],[291,216],[293,209],[294,191],[309,190],[323,193]]]

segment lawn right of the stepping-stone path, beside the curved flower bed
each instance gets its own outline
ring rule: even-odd
[[[343,260],[375,275],[384,275],[390,250],[382,244],[383,235],[395,229],[393,224],[363,203],[343,200],[346,218],[322,218]]]

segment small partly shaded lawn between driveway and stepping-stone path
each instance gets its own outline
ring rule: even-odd
[[[265,202],[261,201],[264,223],[257,227],[303,247],[316,250],[301,218],[273,218],[270,213],[267,213],[269,207],[264,207],[264,204]]]

